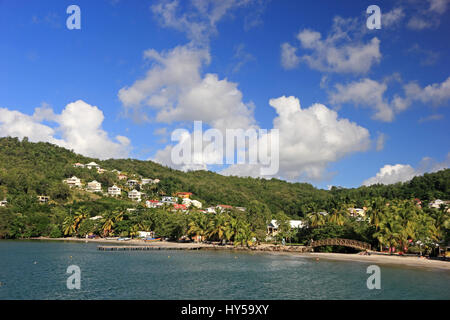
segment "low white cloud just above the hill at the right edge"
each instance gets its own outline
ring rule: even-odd
[[[417,168],[409,164],[385,165],[372,178],[364,180],[362,185],[370,186],[373,184],[393,184],[397,182],[406,182],[415,176],[423,175],[426,172],[436,172],[450,167],[450,152],[442,162],[437,162],[430,157],[424,157]]]

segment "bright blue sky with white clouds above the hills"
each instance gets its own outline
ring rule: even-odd
[[[450,0],[0,0],[0,137],[323,189],[407,181],[450,164],[449,17]],[[244,153],[277,129],[278,170],[174,163],[194,121],[268,130]]]

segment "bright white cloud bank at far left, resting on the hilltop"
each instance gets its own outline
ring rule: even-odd
[[[108,137],[102,129],[103,112],[82,100],[69,103],[61,114],[48,105],[36,108],[33,115],[0,108],[0,136],[28,137],[30,141],[50,142],[77,153],[100,159],[127,157],[130,140]],[[42,122],[55,123],[51,127]]]

